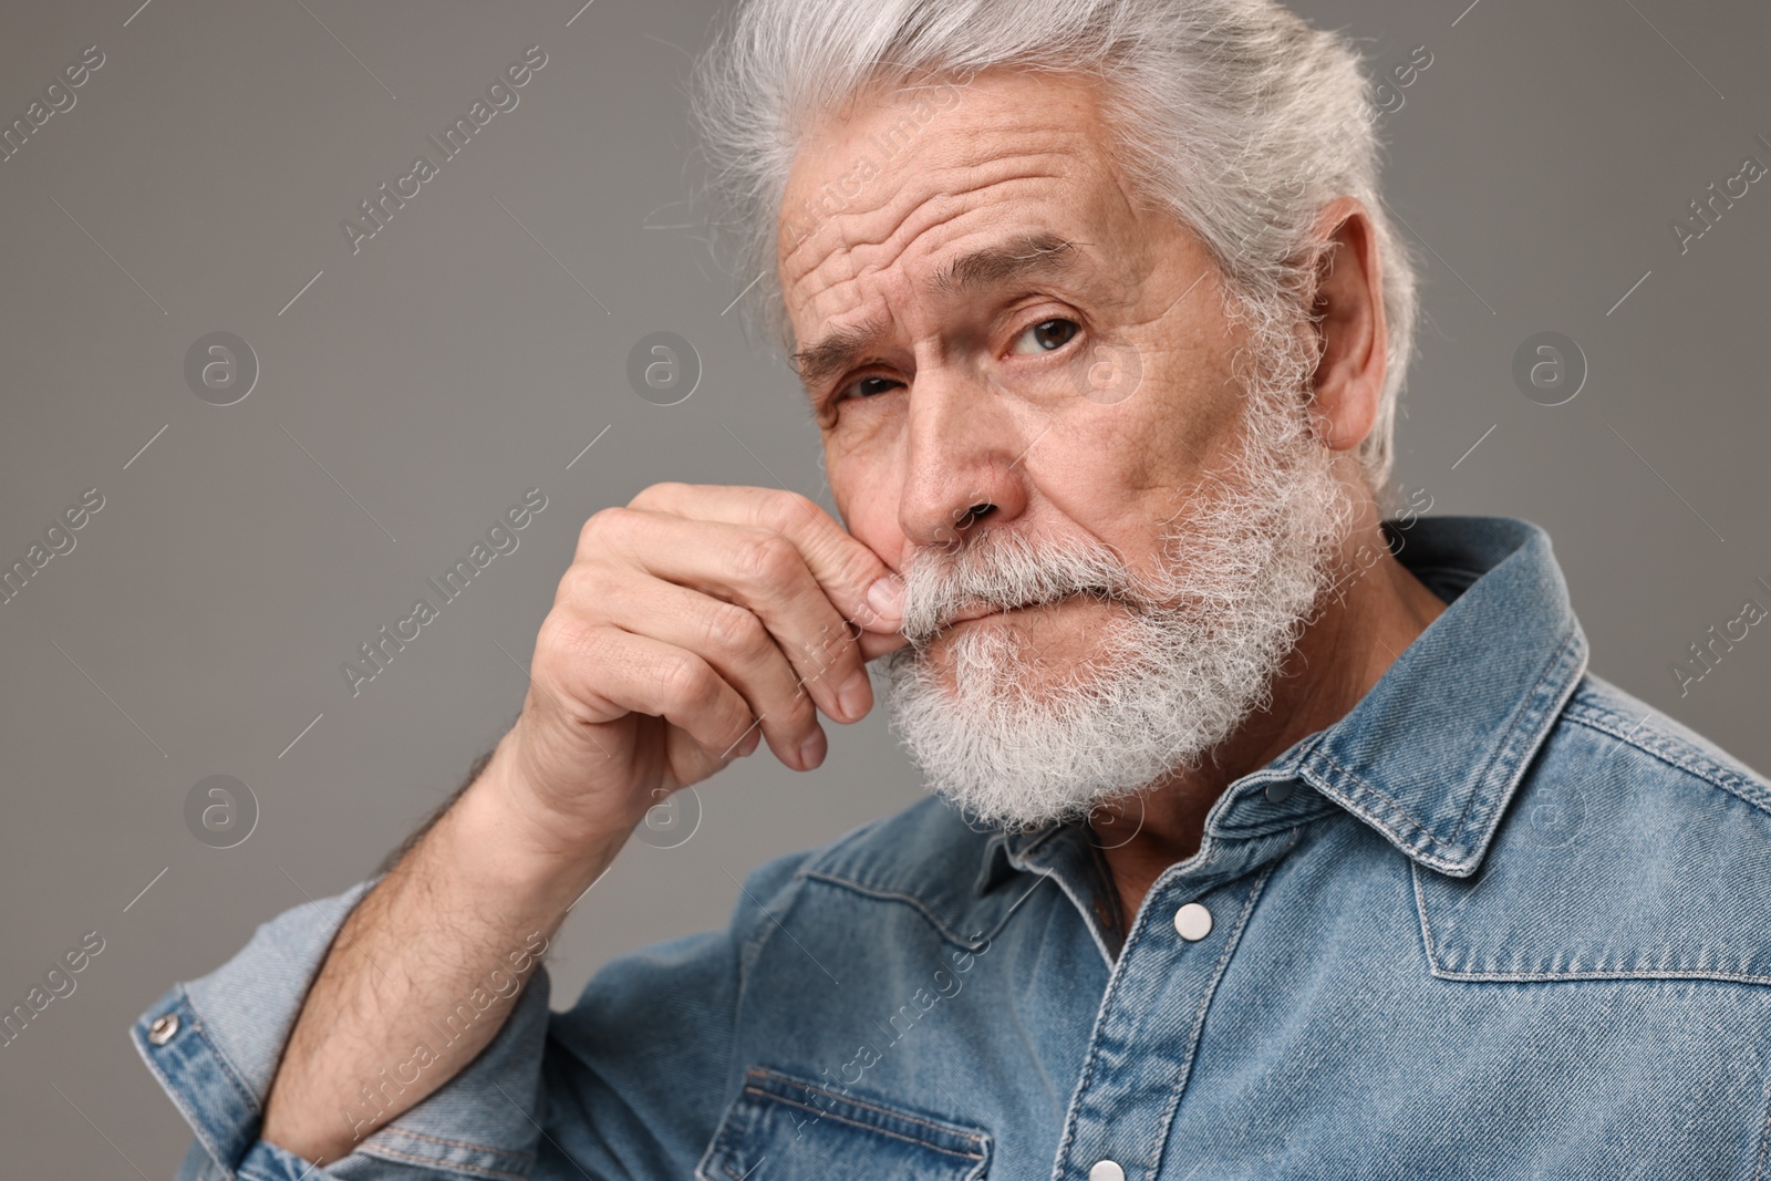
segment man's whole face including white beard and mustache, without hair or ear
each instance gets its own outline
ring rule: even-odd
[[[1222,738],[1295,639],[1339,490],[1295,391],[1250,397],[1204,246],[1133,200],[1094,90],[857,103],[783,211],[831,489],[907,575],[894,708],[937,786],[1032,822]]]

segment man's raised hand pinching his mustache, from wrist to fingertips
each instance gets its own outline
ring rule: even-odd
[[[762,738],[825,754],[816,714],[873,705],[864,662],[903,645],[880,558],[811,499],[657,483],[584,522],[535,641],[507,786],[537,839],[584,846]]]

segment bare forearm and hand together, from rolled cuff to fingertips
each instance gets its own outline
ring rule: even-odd
[[[553,937],[648,807],[763,738],[816,767],[818,710],[852,722],[871,708],[864,666],[903,646],[900,602],[886,563],[793,492],[659,483],[593,515],[517,724],[340,928],[262,1137],[336,1160],[460,1071],[514,995],[416,1082],[375,1087],[372,1112],[360,1101],[512,947]]]

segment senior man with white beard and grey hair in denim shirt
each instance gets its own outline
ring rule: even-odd
[[[452,806],[135,1027],[184,1176],[1764,1176],[1771,790],[1587,675],[1537,528],[1385,519],[1344,41],[753,0],[700,83],[843,524],[593,515]],[[937,797],[549,1013],[643,813],[875,659]]]

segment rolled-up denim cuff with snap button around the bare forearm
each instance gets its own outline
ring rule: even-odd
[[[259,1139],[308,986],[338,926],[374,882],[287,910],[232,960],[175,984],[129,1034],[197,1140],[179,1181],[379,1181],[459,1176],[521,1179],[540,1140],[547,970],[537,969],[498,1036],[448,1084],[335,1162],[308,1162]],[[370,1108],[338,1096],[347,1126]]]

